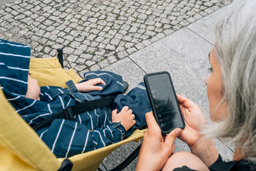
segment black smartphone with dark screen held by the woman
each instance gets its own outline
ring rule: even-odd
[[[154,117],[162,133],[170,133],[175,128],[183,129],[185,123],[170,73],[149,73],[144,76],[144,82]]]

